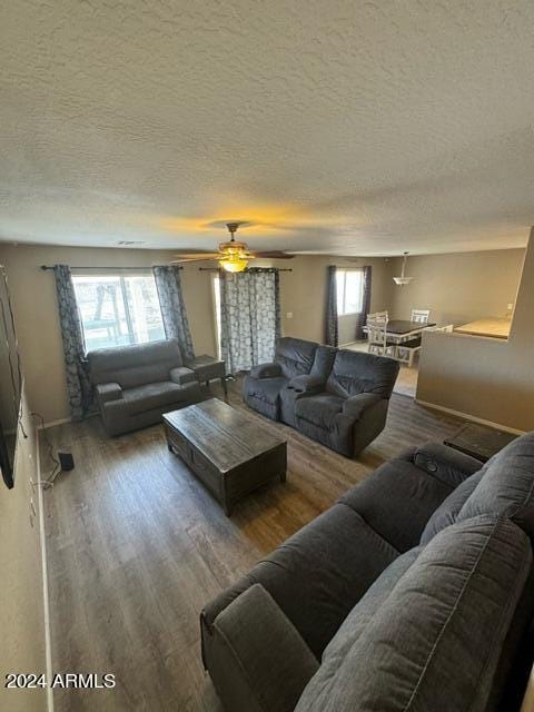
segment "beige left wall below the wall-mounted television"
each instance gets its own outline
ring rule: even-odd
[[[24,431],[19,431],[14,487],[0,481],[0,709],[33,712],[47,709],[42,690],[6,690],[8,672],[46,672],[44,611],[42,595],[41,541],[38,516],[30,524],[30,500],[37,514],[36,438],[33,424],[23,408]]]

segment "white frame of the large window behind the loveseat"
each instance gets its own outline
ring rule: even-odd
[[[121,299],[122,299],[122,307],[123,307],[123,313],[125,313],[125,322],[128,328],[128,333],[125,334],[123,336],[126,336],[128,338],[128,342],[126,344],[116,344],[116,343],[109,343],[107,345],[103,346],[97,346],[97,347],[88,347],[88,339],[86,337],[86,326],[83,323],[83,317],[82,317],[82,313],[81,313],[81,308],[80,308],[80,304],[78,301],[78,295],[76,291],[76,278],[77,277],[93,277],[93,278],[99,278],[99,277],[108,277],[111,279],[118,279],[119,280],[119,293],[121,295]],[[140,345],[140,344],[150,344],[157,340],[160,340],[160,338],[155,338],[155,339],[148,339],[148,340],[136,340],[135,336],[136,336],[136,332],[134,329],[134,319],[131,316],[131,308],[128,301],[128,291],[127,291],[127,284],[126,284],[126,279],[128,277],[150,277],[154,281],[154,288],[155,288],[155,294],[156,294],[156,298],[157,298],[157,305],[159,307],[159,317],[160,317],[160,322],[161,322],[161,330],[162,330],[162,336],[161,338],[166,338],[165,335],[165,324],[164,324],[164,315],[161,313],[161,303],[159,300],[159,295],[158,295],[158,289],[157,289],[157,285],[156,285],[156,279],[154,277],[152,270],[147,267],[146,269],[121,269],[120,267],[118,267],[117,269],[73,269],[72,270],[72,286],[75,289],[75,298],[76,298],[76,305],[77,305],[77,309],[78,309],[78,316],[79,316],[79,320],[80,320],[80,327],[81,327],[81,338],[83,340],[83,354],[87,356],[88,353],[90,352],[96,352],[96,350],[101,350],[103,348],[120,348],[121,346],[136,346],[136,345]]]

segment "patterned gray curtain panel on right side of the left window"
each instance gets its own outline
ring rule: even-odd
[[[176,265],[152,267],[158,288],[161,318],[167,338],[177,338],[182,362],[195,358],[191,333],[181,291],[180,268]]]

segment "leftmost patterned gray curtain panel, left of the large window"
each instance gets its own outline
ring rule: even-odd
[[[59,323],[63,338],[65,369],[70,413],[73,421],[81,421],[95,408],[92,387],[86,362],[83,332],[70,267],[55,265],[56,291],[58,294]]]

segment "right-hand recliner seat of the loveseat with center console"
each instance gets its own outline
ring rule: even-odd
[[[296,427],[342,455],[356,456],[386,425],[398,368],[392,358],[338,350],[320,390],[295,402]]]

